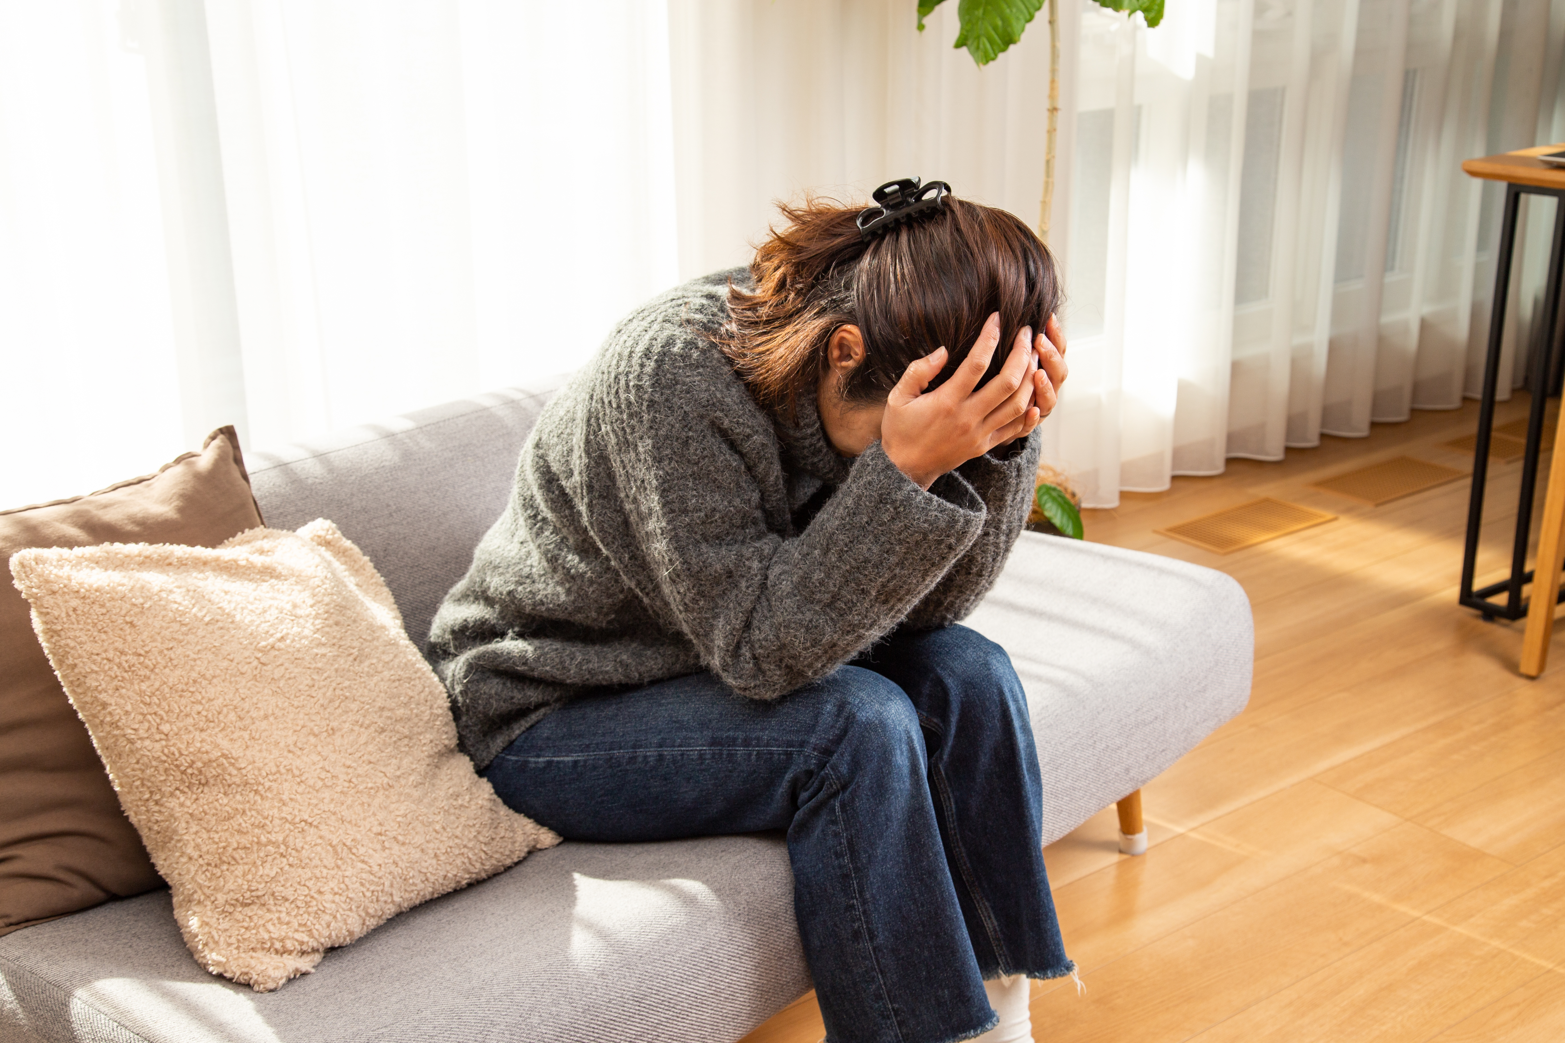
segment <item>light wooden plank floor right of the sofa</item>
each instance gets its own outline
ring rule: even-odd
[[[1244,585],[1255,688],[1144,790],[1146,857],[1117,854],[1113,808],[1047,849],[1086,991],[1034,984],[1041,1043],[1565,1040],[1565,624],[1526,680],[1523,622],[1457,607],[1468,480],[1377,508],[1310,488],[1402,453],[1470,468],[1441,443],[1476,413],[1086,511],[1088,539]],[[1490,471],[1480,583],[1506,571],[1520,469]],[[1340,518],[1227,557],[1153,533],[1257,496]],[[804,998],[747,1043],[820,1037]]]

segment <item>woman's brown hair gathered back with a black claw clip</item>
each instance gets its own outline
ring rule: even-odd
[[[865,358],[839,386],[850,402],[880,402],[908,363],[945,347],[937,386],[967,357],[984,321],[1000,313],[1000,349],[984,380],[1000,371],[1022,327],[1042,333],[1061,302],[1049,247],[1016,216],[947,197],[930,216],[859,238],[862,206],[806,199],[778,206],[750,264],[754,291],[729,286],[731,325],[723,352],[756,399],[792,416],[800,389],[818,380],[826,342],[858,325]]]

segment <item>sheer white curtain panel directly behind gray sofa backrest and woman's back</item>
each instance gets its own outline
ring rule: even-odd
[[[675,281],[660,5],[207,16],[255,443],[574,369]]]

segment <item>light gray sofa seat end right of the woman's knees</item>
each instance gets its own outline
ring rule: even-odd
[[[1024,532],[969,627],[1009,652],[1044,776],[1044,843],[1139,790],[1250,697],[1255,632],[1232,577]]]

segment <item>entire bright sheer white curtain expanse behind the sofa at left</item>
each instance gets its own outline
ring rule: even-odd
[[[581,364],[678,277],[668,17],[0,0],[0,505]]]

